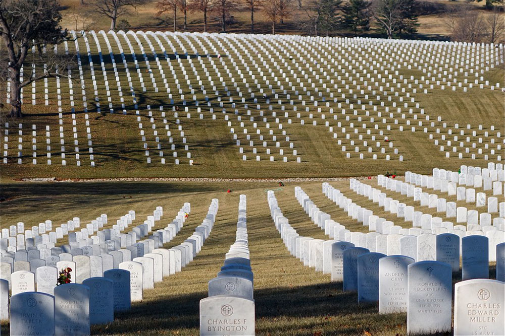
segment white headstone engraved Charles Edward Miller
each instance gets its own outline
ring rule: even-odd
[[[465,280],[456,283],[454,294],[455,336],[505,335],[505,283],[487,279]]]

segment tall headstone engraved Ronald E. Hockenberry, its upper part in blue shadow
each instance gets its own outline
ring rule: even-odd
[[[407,267],[407,333],[451,330],[451,266],[439,261],[419,261]]]

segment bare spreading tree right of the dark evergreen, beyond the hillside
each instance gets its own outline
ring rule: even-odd
[[[417,15],[416,0],[374,0],[371,13],[387,38],[396,33],[415,33]]]

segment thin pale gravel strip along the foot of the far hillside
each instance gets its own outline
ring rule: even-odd
[[[351,178],[368,179],[369,176],[354,177],[288,177],[288,178],[210,178],[210,177],[123,177],[123,178],[56,178],[27,177],[20,182],[320,182],[346,181]],[[374,176],[372,176],[374,178]]]

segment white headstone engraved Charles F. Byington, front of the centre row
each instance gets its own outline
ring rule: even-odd
[[[200,300],[200,335],[254,335],[255,302],[217,295]]]

